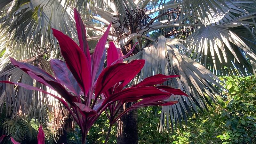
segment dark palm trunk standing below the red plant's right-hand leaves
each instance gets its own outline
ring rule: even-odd
[[[129,106],[126,104],[120,109],[124,111]],[[138,111],[134,109],[117,121],[117,144],[138,144]]]

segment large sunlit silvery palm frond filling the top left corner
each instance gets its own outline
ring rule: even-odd
[[[46,49],[57,51],[52,53],[52,57],[56,57],[58,45],[51,28],[76,39],[73,10],[70,6],[64,10],[63,3],[58,0],[16,0],[7,4],[0,16],[1,50],[8,49],[6,55],[20,52],[14,55],[14,58],[21,56],[18,60],[31,58]]]

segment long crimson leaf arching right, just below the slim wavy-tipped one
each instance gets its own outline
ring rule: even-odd
[[[126,88],[120,92],[112,94],[110,97],[106,98],[102,103],[102,106],[113,101],[122,100],[125,102],[136,101],[144,98],[151,98],[156,96],[169,96],[169,92],[162,91],[153,86],[140,86],[140,87],[130,87]]]

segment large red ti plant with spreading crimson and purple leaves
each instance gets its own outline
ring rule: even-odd
[[[31,78],[55,90],[61,97],[53,95],[39,88],[23,84],[0,81],[2,83],[16,84],[30,90],[47,93],[65,105],[76,123],[81,128],[82,144],[94,122],[107,109],[110,124],[114,124],[128,111],[146,106],[172,105],[177,101],[164,101],[171,94],[186,95],[184,92],[168,86],[156,86],[175,76],[155,75],[150,76],[139,84],[124,88],[144,66],[145,60],[133,60],[123,63],[123,59],[130,53],[122,56],[115,45],[110,42],[107,56],[107,67],[104,68],[106,57],[105,44],[111,24],[96,45],[93,55],[90,55],[86,41],[86,30],[80,14],[74,9],[76,29],[80,47],[70,37],[62,32],[52,29],[57,38],[60,51],[65,59],[52,59],[50,61],[55,77],[44,70],[11,58],[13,65],[21,68]],[[141,100],[118,115],[118,110],[126,102]]]

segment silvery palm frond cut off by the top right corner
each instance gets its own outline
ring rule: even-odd
[[[181,14],[188,25],[203,23],[204,25],[218,25],[237,16],[254,12],[254,0],[182,0]],[[183,19],[181,19],[183,21]]]

